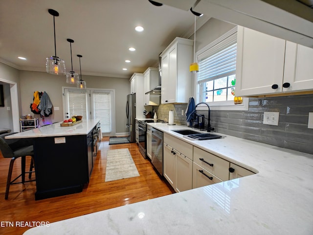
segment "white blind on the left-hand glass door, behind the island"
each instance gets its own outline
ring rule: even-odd
[[[88,117],[87,115],[87,91],[81,90],[68,90],[68,113],[69,117],[74,115],[81,115]]]

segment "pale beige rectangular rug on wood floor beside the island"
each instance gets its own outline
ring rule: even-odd
[[[105,182],[139,176],[128,148],[109,149]]]

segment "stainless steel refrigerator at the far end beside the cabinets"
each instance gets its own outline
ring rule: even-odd
[[[135,118],[136,118],[136,94],[128,94],[126,102],[126,127],[128,131],[127,139],[135,141]]]

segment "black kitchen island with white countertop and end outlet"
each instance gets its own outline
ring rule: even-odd
[[[36,200],[81,192],[89,183],[98,122],[83,120],[73,126],[59,122],[6,136],[33,139]]]

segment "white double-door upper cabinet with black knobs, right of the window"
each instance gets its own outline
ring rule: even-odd
[[[238,26],[236,96],[313,90],[313,49]]]

